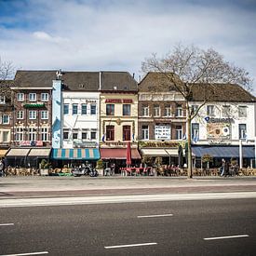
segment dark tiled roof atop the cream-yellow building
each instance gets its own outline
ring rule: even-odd
[[[101,72],[101,91],[138,91],[136,80],[128,72]]]

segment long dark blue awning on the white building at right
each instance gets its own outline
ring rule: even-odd
[[[254,158],[254,146],[242,146],[243,158]],[[193,146],[192,152],[195,157],[202,157],[203,155],[211,155],[212,157],[232,158],[239,157],[239,146]]]

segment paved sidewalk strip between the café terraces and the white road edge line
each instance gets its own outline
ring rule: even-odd
[[[256,177],[6,177],[0,199],[83,195],[256,192]]]

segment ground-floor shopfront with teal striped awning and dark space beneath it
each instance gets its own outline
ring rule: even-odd
[[[80,166],[86,161],[96,166],[96,161],[101,158],[97,148],[61,148],[52,149],[51,163],[54,168]]]

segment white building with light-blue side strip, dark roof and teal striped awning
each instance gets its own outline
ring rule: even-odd
[[[56,165],[100,158],[99,72],[61,72],[54,81],[53,152]],[[93,163],[95,164],[95,163]]]

